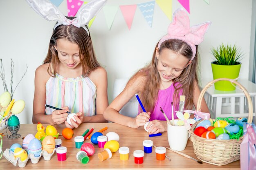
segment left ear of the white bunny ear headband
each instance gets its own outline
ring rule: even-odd
[[[51,2],[46,0],[26,0],[29,6],[48,21],[62,21],[65,15]]]

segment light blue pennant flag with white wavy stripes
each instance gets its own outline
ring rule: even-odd
[[[144,15],[144,18],[148,22],[148,25],[152,27],[155,1],[138,4],[138,7],[142,14]]]

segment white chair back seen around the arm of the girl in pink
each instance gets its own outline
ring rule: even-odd
[[[117,95],[119,95],[124,90],[128,80],[128,78],[115,79],[113,87],[113,99],[115,99],[115,97],[117,97]],[[138,106],[139,102],[134,96],[126,105],[124,105],[123,108],[121,108],[119,113],[128,117],[136,117],[138,114]]]

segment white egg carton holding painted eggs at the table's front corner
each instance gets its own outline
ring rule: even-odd
[[[28,157],[27,157],[27,159],[24,160],[24,161],[21,161],[20,158],[16,158],[16,159],[15,159],[13,153],[10,153],[10,149],[9,149],[9,148],[7,148],[7,149],[4,151],[3,155],[4,155],[4,157],[5,157],[8,161],[10,161],[14,166],[16,166],[17,163],[18,163],[18,166],[19,166],[20,168],[24,168],[24,167],[27,165],[27,161],[28,161],[29,159],[31,160],[32,163],[38,163],[39,159],[43,156],[44,159],[45,159],[45,161],[49,161],[49,160],[52,158],[52,155],[54,154],[54,152],[56,152],[56,148],[54,148],[54,150],[53,150],[52,153],[48,153],[47,151],[42,150],[42,151],[40,152],[39,157],[35,157],[34,154],[29,154]]]

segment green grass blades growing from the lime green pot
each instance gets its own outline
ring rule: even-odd
[[[217,47],[217,49],[211,49],[212,55],[215,57],[214,64],[218,65],[237,65],[240,64],[240,60],[243,54],[236,45],[231,44],[224,45],[223,43]]]

